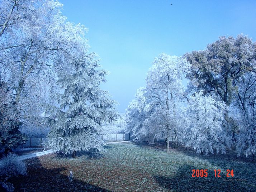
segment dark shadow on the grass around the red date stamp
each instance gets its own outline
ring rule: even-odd
[[[156,183],[172,191],[253,191],[246,179],[227,178],[224,173],[215,177],[213,170],[208,170],[208,177],[192,177],[192,170],[198,169],[184,164],[173,176],[155,175]],[[196,174],[195,174],[196,176]],[[247,183],[248,182],[248,183]]]

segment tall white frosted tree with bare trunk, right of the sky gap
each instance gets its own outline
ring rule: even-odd
[[[127,109],[127,127],[136,139],[152,143],[164,136],[167,153],[170,138],[177,143],[183,117],[180,115],[184,93],[181,81],[188,68],[184,58],[165,53],[155,58],[147,74],[146,87],[137,92]]]

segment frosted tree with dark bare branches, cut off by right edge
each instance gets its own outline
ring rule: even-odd
[[[256,75],[247,73],[240,78],[237,85],[234,110],[237,111],[237,124],[239,133],[236,135],[237,156],[252,155],[252,161],[256,153]]]

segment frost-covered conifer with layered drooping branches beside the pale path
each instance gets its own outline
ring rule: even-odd
[[[70,73],[58,74],[57,84],[63,93],[56,98],[60,108],[50,107],[47,111],[56,123],[48,134],[45,148],[72,153],[74,158],[77,151],[104,150],[105,143],[98,136],[103,134],[101,124],[112,123],[119,114],[114,108],[117,102],[99,87],[106,82],[107,72],[98,69],[100,65],[95,57],[95,53],[82,53],[70,63],[73,67]]]

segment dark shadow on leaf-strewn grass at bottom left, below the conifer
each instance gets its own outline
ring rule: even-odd
[[[28,164],[28,162],[26,162],[26,164]],[[47,167],[43,167],[38,158],[29,159],[27,169],[28,176],[19,176],[9,179],[9,182],[14,184],[15,191],[109,192],[107,189],[75,178],[69,181],[67,175],[70,170],[67,170],[65,167],[58,167],[56,164],[47,164]],[[76,174],[79,174],[79,172],[74,171],[74,177]]]

